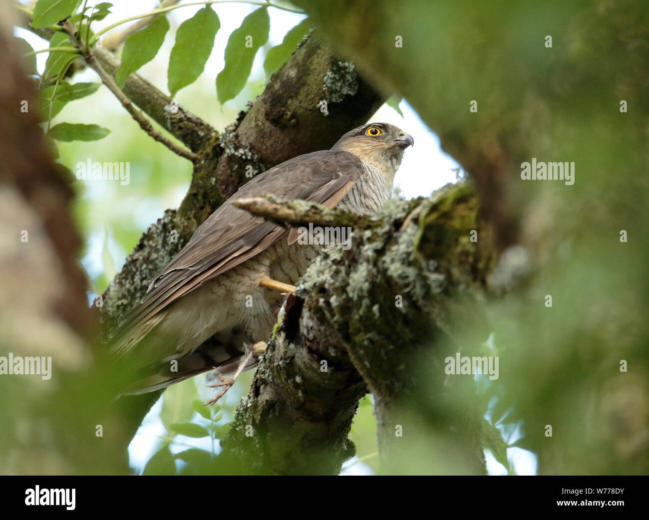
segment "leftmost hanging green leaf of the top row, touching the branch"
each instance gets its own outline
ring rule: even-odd
[[[167,30],[169,22],[160,15],[148,27],[127,38],[122,51],[121,65],[115,75],[119,88],[123,88],[126,78],[156,57]]]

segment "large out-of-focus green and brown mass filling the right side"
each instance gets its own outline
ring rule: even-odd
[[[409,100],[484,209],[513,216],[526,250],[506,251],[500,281],[516,290],[482,307],[502,351],[493,417],[524,421],[539,473],[646,473],[646,5],[296,3]],[[523,181],[532,158],[574,162],[574,185]]]

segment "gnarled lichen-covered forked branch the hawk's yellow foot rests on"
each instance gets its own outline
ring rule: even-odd
[[[291,204],[280,206],[288,214]],[[417,207],[419,219],[408,219]],[[324,249],[289,297],[221,442],[222,471],[236,460],[241,473],[337,474],[354,453],[347,435],[369,391],[385,473],[485,473],[472,377],[449,382],[443,369],[458,343],[469,352],[480,344],[461,332],[463,319],[480,320],[474,301],[493,266],[476,198],[456,185],[391,200],[376,222],[354,228],[349,251]],[[474,228],[482,244],[469,242]],[[437,437],[434,452],[426,434]]]

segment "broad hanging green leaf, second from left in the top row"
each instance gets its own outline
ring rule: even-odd
[[[208,5],[178,27],[167,71],[167,88],[171,97],[202,74],[220,27],[219,17]]]

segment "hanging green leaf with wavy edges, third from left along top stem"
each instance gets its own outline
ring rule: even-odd
[[[232,31],[225,47],[225,67],[216,77],[219,103],[234,99],[243,90],[255,54],[268,41],[270,27],[268,10],[262,7],[251,12],[243,19],[241,27]]]

